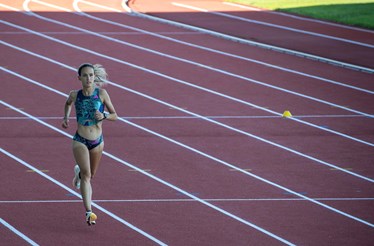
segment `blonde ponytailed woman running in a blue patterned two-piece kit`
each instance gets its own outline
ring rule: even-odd
[[[70,92],[62,122],[63,128],[69,127],[69,116],[74,104],[78,129],[73,138],[73,154],[77,163],[74,167],[73,185],[77,189],[80,188],[88,225],[96,224],[97,219],[91,208],[91,179],[99,167],[104,148],[102,124],[104,120],[117,119],[108,92],[101,88],[106,78],[107,73],[101,65],[82,64],[78,68],[78,79],[82,83],[82,89]],[[109,114],[104,112],[105,107]]]

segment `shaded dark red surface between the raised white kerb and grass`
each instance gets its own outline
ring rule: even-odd
[[[137,12],[177,23],[368,68],[373,73],[374,32],[221,0],[130,0]],[[257,44],[260,43],[260,44]],[[347,52],[349,50],[349,52]],[[343,64],[341,64],[343,65]]]

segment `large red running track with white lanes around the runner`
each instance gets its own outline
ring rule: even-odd
[[[371,74],[45,2],[54,3],[28,4],[39,18],[9,8],[23,1],[0,6],[7,245],[25,243],[15,230],[40,245],[370,245]],[[95,227],[71,190],[71,140],[60,128],[86,61],[108,68],[124,117],[105,124]],[[293,118],[281,117],[286,109]]]

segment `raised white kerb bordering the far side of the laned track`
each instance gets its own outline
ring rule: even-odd
[[[111,24],[111,25],[119,26],[119,27],[122,27],[122,28],[134,30],[134,31],[137,31],[137,32],[141,32],[141,33],[144,33],[144,34],[148,34],[148,35],[157,37],[157,38],[161,38],[161,39],[165,39],[165,40],[168,40],[168,41],[171,41],[171,42],[175,42],[175,43],[179,43],[179,44],[182,44],[182,45],[190,46],[190,47],[193,47],[193,48],[196,48],[196,49],[206,50],[208,52],[212,52],[212,53],[232,57],[232,58],[235,58],[235,59],[256,63],[256,64],[259,64],[259,65],[262,65],[262,66],[270,67],[270,68],[281,70],[281,71],[288,72],[288,73],[297,74],[297,75],[300,75],[300,76],[303,76],[303,77],[308,77],[308,78],[316,79],[316,80],[323,81],[323,82],[326,82],[326,83],[330,83],[330,84],[334,84],[334,85],[338,85],[338,86],[342,86],[342,87],[347,87],[347,88],[350,88],[350,89],[353,89],[353,90],[358,90],[358,91],[366,92],[366,93],[369,93],[369,94],[374,94],[374,91],[371,91],[371,90],[367,90],[367,89],[363,89],[363,88],[360,88],[360,87],[344,84],[342,82],[334,81],[334,80],[331,80],[331,79],[326,79],[326,78],[323,78],[323,77],[320,77],[320,76],[299,72],[299,71],[296,71],[296,70],[293,70],[293,69],[288,69],[288,68],[285,68],[285,67],[276,66],[276,65],[269,64],[269,63],[262,62],[262,61],[258,61],[258,60],[255,60],[255,59],[242,57],[242,56],[239,56],[239,55],[234,55],[234,54],[226,53],[226,52],[223,52],[223,51],[211,49],[211,48],[208,48],[208,47],[188,43],[188,42],[181,41],[181,40],[178,40],[178,39],[175,39],[175,38],[160,35],[160,33],[154,33],[154,32],[146,31],[146,30],[143,30],[143,29],[135,28],[135,27],[132,27],[132,26],[128,26],[128,25],[125,25],[125,24],[122,24],[122,23],[110,21],[108,19],[99,18],[99,17],[96,17],[96,16],[93,16],[93,15],[82,12],[76,6],[77,5],[76,3],[80,2],[80,1],[81,0],[76,0],[74,2],[75,10],[77,12],[79,12],[81,15],[86,16],[86,17],[88,17],[90,19],[93,19],[93,20],[97,20],[97,21],[100,21],[100,22],[104,22],[104,23],[108,23],[108,24]],[[84,2],[87,2],[87,1],[84,1]],[[101,7],[102,5],[97,5],[97,6]],[[197,32],[195,32],[195,33],[199,34]]]

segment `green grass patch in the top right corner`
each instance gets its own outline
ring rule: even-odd
[[[226,0],[374,29],[374,0]]]

